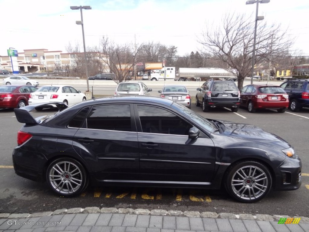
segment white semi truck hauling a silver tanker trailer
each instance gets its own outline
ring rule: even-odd
[[[234,74],[223,68],[179,68],[163,67],[158,73],[151,73],[150,80],[205,81],[208,79],[237,79]]]

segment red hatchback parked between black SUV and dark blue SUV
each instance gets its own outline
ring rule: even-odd
[[[250,113],[256,109],[277,109],[284,113],[289,107],[289,95],[278,85],[250,84],[240,90],[240,105]]]

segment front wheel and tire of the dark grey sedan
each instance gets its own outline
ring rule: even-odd
[[[257,176],[259,176],[258,180],[255,178]],[[261,200],[268,194],[271,186],[270,171],[258,161],[238,162],[227,170],[226,191],[240,202],[253,203]]]

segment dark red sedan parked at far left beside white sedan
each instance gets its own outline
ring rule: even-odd
[[[21,108],[28,105],[29,95],[37,87],[31,85],[0,86],[0,108]]]

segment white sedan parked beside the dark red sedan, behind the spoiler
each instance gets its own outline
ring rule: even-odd
[[[29,105],[43,102],[63,102],[74,105],[86,101],[86,95],[68,85],[44,85],[29,96]]]

